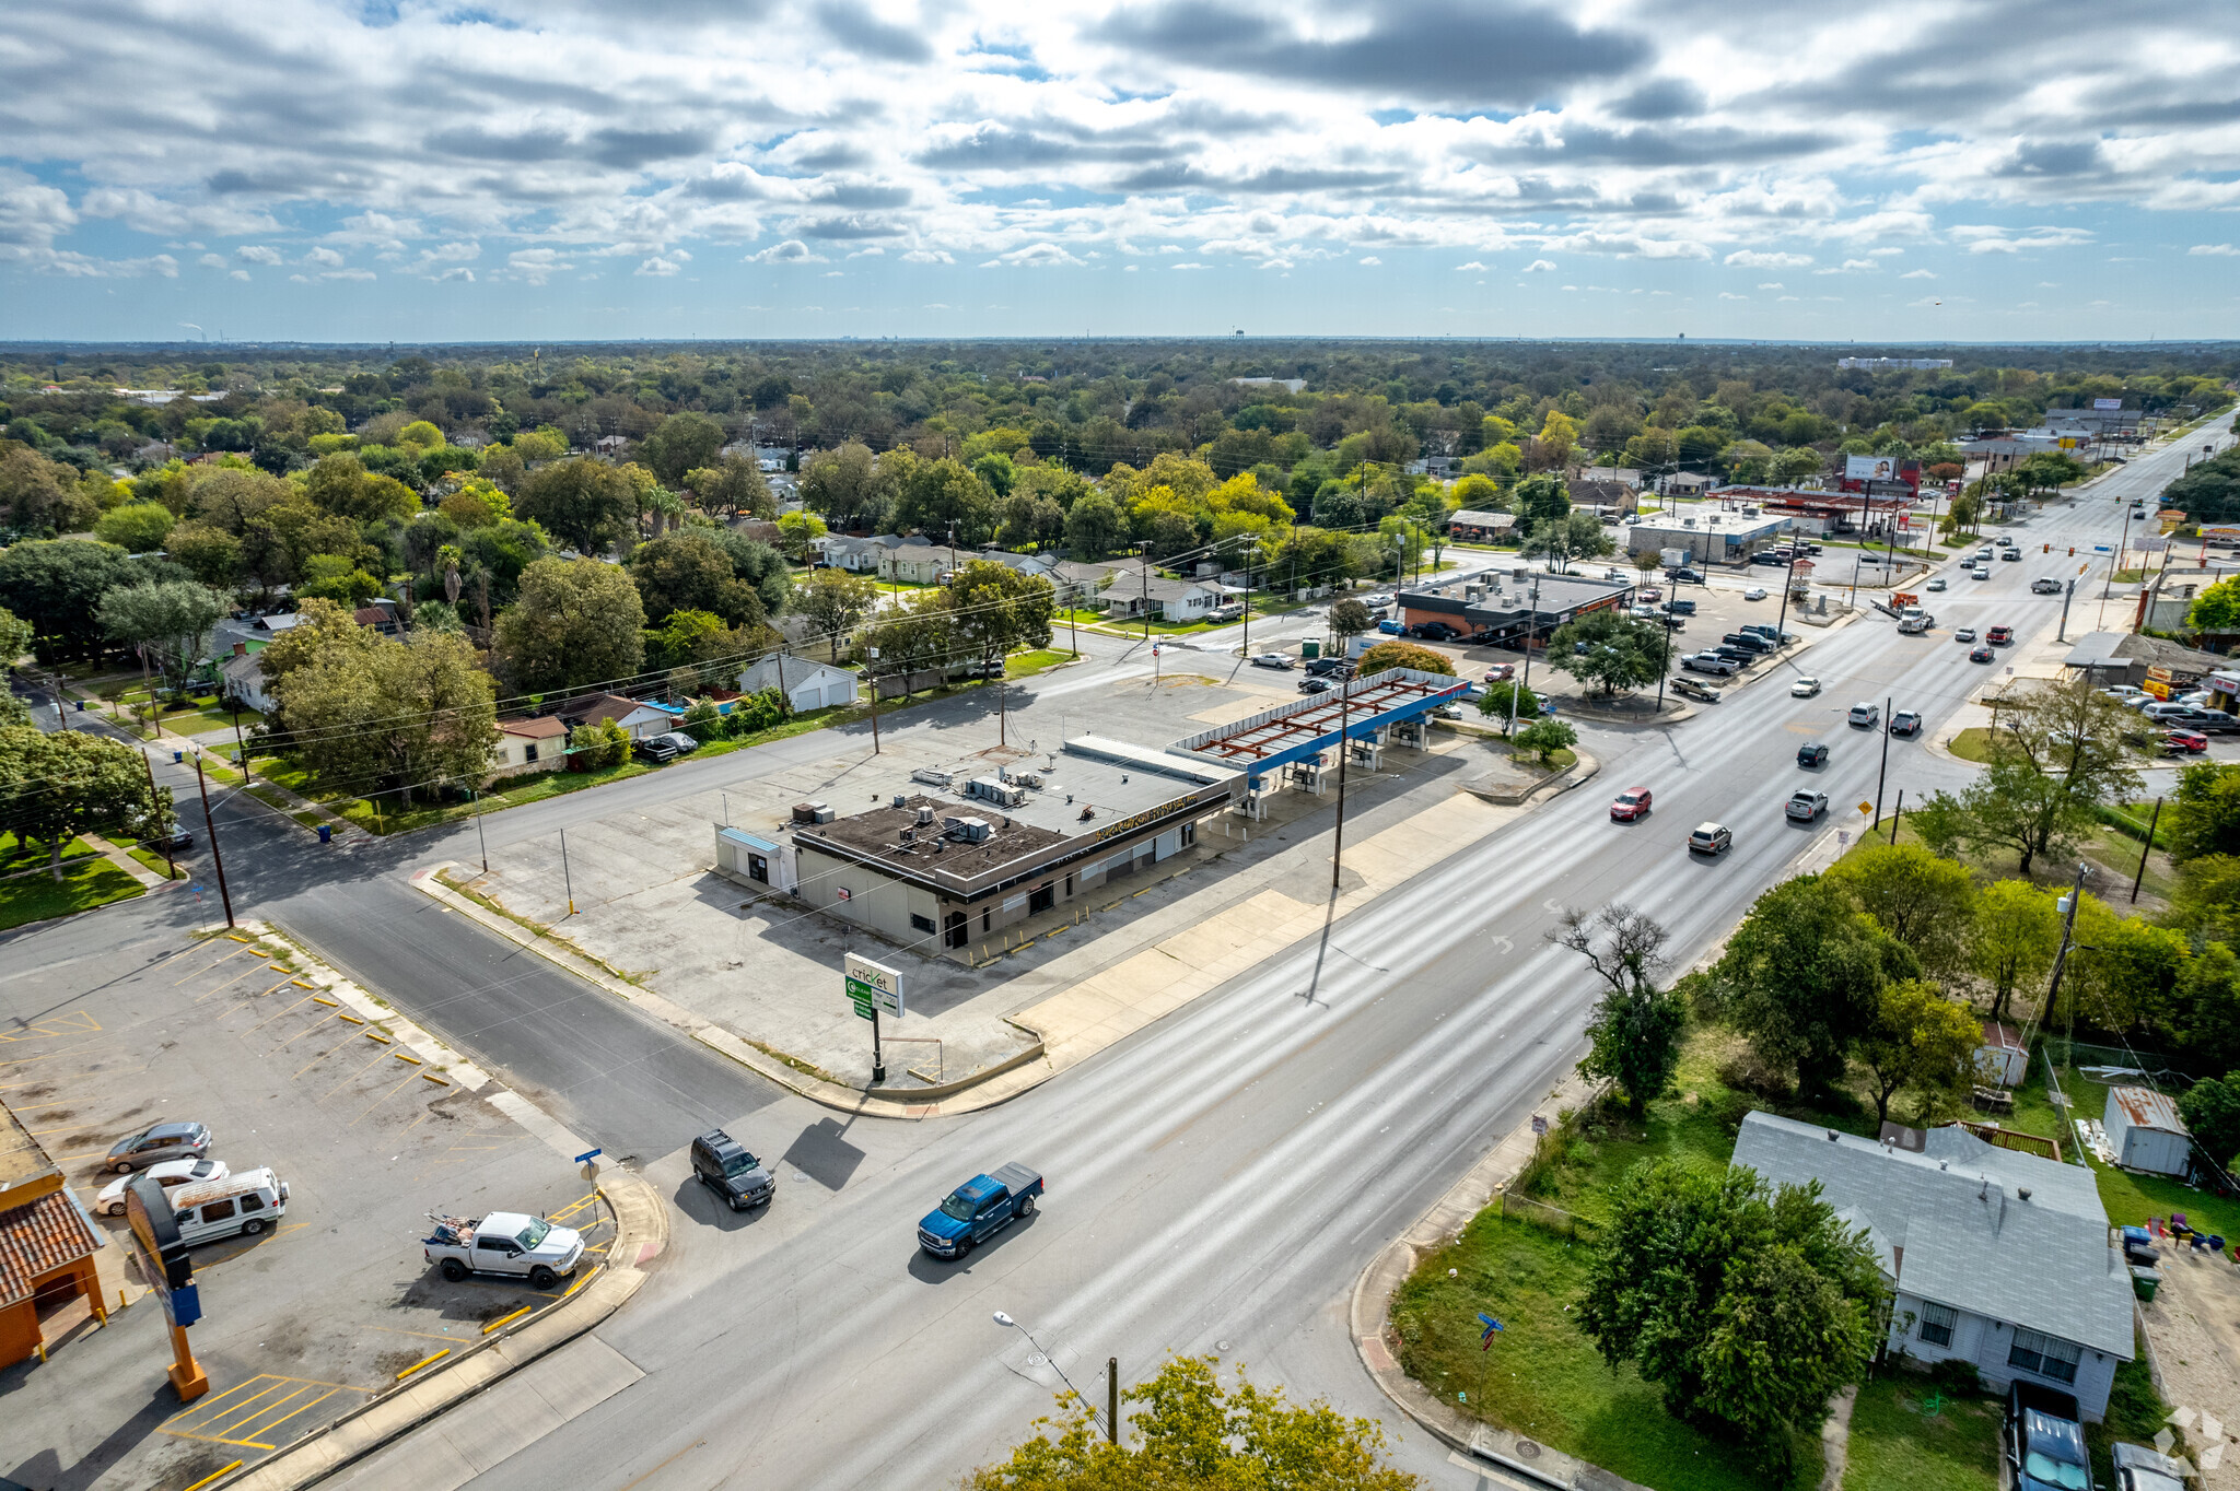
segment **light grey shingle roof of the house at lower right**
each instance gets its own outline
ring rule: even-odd
[[[1772,1113],[1743,1119],[1734,1164],[1772,1184],[1817,1180],[1915,1298],[2132,1357],[2130,1274],[2083,1166],[1996,1148],[1958,1126],[1931,1128],[1911,1155]]]

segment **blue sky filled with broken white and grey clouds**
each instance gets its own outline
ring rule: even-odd
[[[16,0],[0,340],[2240,336],[2209,0]]]

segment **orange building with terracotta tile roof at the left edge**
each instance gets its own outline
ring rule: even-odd
[[[45,1354],[49,1330],[60,1337],[87,1312],[110,1319],[94,1263],[101,1247],[63,1169],[0,1106],[0,1368]]]

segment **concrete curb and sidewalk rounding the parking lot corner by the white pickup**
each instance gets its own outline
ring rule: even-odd
[[[493,1332],[426,1377],[396,1384],[370,1404],[314,1428],[287,1448],[215,1484],[226,1491],[235,1487],[244,1491],[314,1487],[605,1323],[638,1292],[645,1283],[645,1265],[668,1247],[670,1213],[661,1193],[632,1171],[600,1175],[598,1195],[614,1213],[614,1242],[607,1263],[571,1285],[556,1303],[520,1325]]]

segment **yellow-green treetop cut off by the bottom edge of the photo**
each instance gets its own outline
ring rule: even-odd
[[[1127,1444],[1111,1444],[1095,1408],[1062,1395],[1060,1419],[1008,1460],[965,1475],[965,1491],[1418,1491],[1422,1482],[1380,1462],[1384,1431],[1324,1401],[1292,1406],[1281,1388],[1257,1388],[1243,1370],[1221,1386],[1219,1357],[1172,1357],[1147,1384],[1120,1395]]]

